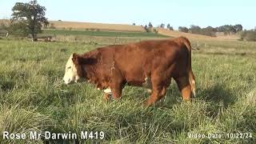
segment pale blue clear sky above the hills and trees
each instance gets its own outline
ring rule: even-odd
[[[10,18],[15,2],[1,0],[0,19]],[[256,26],[256,0],[38,0],[46,7],[48,20],[100,22],[153,26],[170,23],[178,26],[223,26],[242,24],[244,29]]]

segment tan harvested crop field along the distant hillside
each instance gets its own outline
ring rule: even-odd
[[[0,19],[0,23],[7,24],[9,20]],[[126,32],[145,32],[142,26],[133,26],[127,24],[107,24],[107,23],[94,23],[94,22],[66,22],[66,21],[50,21],[50,28],[62,29],[62,30],[109,30],[109,31],[126,31]],[[156,28],[158,34],[179,37],[184,36],[190,39],[202,39],[202,40],[237,40],[238,35],[217,35],[217,37],[210,37],[202,34],[190,34],[183,33],[178,30],[167,30],[162,28]]]

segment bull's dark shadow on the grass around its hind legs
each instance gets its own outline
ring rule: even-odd
[[[197,96],[196,98],[192,98],[192,103],[194,100],[210,103],[210,106],[207,106],[207,115],[209,117],[216,117],[221,110],[233,105],[236,97],[234,96],[234,92],[226,88],[226,86],[216,84],[208,89],[200,90],[198,88]],[[157,102],[155,106],[171,109],[178,103],[182,103],[182,94],[179,92],[178,86],[173,84],[167,89],[166,96]]]

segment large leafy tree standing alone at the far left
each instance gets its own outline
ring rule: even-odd
[[[32,41],[37,41],[37,34],[42,33],[42,25],[49,24],[45,17],[46,8],[33,0],[28,3],[16,2],[12,10],[12,18],[16,21],[14,25],[22,26],[31,35]]]

